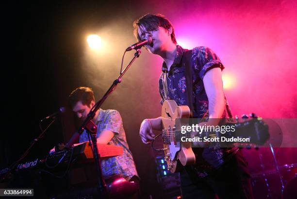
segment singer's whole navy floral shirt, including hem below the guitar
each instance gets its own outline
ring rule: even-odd
[[[159,92],[161,95],[161,105],[165,100],[175,100],[178,106],[188,105],[186,94],[186,79],[185,79],[185,66],[181,64],[181,58],[186,50],[177,45],[177,51],[174,62],[168,72],[166,63],[163,62],[162,74],[159,78]],[[208,119],[208,98],[203,85],[203,77],[209,70],[213,68],[224,69],[223,64],[214,52],[205,46],[196,47],[192,50],[191,56],[192,65],[192,80],[193,80],[193,118],[203,118],[206,116]],[[226,97],[225,97],[226,100]],[[226,113],[231,111],[226,100],[226,109],[223,118],[227,117]],[[199,162],[195,166],[195,170],[199,177],[205,177],[212,168],[218,168],[229,160],[232,154],[237,152],[237,148],[220,148],[207,147],[207,148],[193,148],[196,158]],[[228,157],[228,158],[227,158]]]

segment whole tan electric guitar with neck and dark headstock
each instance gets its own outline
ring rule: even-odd
[[[191,138],[191,133],[181,133],[182,126],[188,126],[190,117],[190,109],[188,106],[177,106],[174,100],[166,100],[162,106],[162,138],[165,153],[165,161],[167,169],[172,173],[178,172],[180,166],[191,165],[196,162],[195,154],[192,150],[192,142],[181,142],[181,136]],[[228,132],[221,134],[220,132],[200,133],[200,137],[249,137],[250,144],[263,145],[269,139],[268,126],[264,123],[262,118],[252,116],[252,119],[247,120],[248,116],[243,116],[243,122],[230,122],[225,126],[235,126],[235,132]],[[240,144],[245,145],[245,144]]]

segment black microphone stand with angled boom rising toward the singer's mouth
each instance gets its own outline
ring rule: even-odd
[[[100,154],[98,153],[98,147],[97,147],[97,126],[94,124],[92,119],[95,117],[95,114],[97,110],[101,107],[103,102],[107,99],[107,97],[115,90],[118,83],[122,82],[122,76],[127,72],[127,70],[130,68],[132,63],[135,61],[137,57],[141,54],[140,49],[135,49],[136,52],[134,54],[134,57],[130,61],[130,63],[127,65],[127,67],[120,72],[119,76],[115,79],[111,87],[106,91],[106,93],[103,95],[103,97],[94,105],[94,107],[90,110],[90,112],[87,115],[87,118],[83,121],[82,126],[78,130],[79,135],[82,134],[84,130],[86,130],[87,133],[89,133],[92,137],[92,144],[93,144],[93,158],[96,163],[96,169],[98,174],[98,193],[100,199],[107,199],[107,190],[106,190],[106,183],[102,176],[101,171],[101,160],[100,160]],[[68,143],[67,146],[72,146],[73,143]]]

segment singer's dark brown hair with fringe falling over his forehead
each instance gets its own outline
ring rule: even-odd
[[[172,28],[172,33],[171,33],[171,40],[173,43],[177,44],[176,39],[175,39],[175,34],[174,34],[174,28],[171,24],[171,22],[165,18],[164,15],[161,14],[156,14],[156,15],[151,15],[151,14],[146,14],[145,16],[135,20],[133,22],[133,27],[134,27],[134,36],[137,38],[137,40],[141,40],[139,34],[138,34],[138,28],[140,26],[143,26],[147,31],[155,31],[158,29],[158,27],[163,27],[165,29]]]

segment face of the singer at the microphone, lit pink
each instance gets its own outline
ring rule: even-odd
[[[171,42],[171,36],[168,30],[160,26],[154,31],[147,31],[144,26],[140,26],[138,28],[138,34],[141,39],[151,37],[152,45],[146,45],[145,47],[152,54],[159,54],[162,51],[166,51],[167,42]]]

